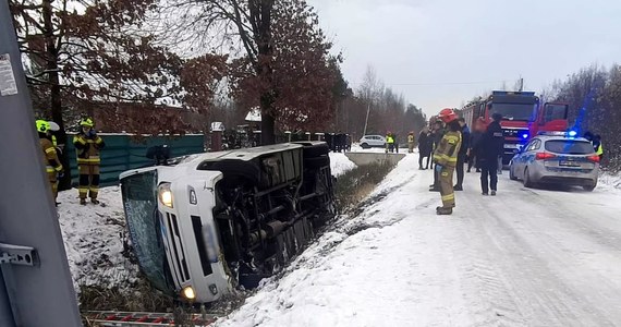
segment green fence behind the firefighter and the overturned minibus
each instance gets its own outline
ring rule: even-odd
[[[101,186],[110,186],[119,183],[119,174],[121,172],[148,167],[154,164],[147,159],[147,148],[156,145],[168,145],[172,157],[199,154],[205,150],[205,136],[203,134],[193,134],[184,136],[150,136],[136,140],[131,134],[99,134],[106,148],[101,150]],[[69,140],[73,140],[73,135],[69,135]],[[65,145],[69,152],[72,184],[77,185],[78,172],[76,153],[73,143]]]

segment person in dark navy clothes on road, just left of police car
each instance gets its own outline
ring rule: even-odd
[[[500,121],[502,114],[496,112],[491,116],[492,122],[487,126],[477,147],[477,156],[480,162],[480,187],[483,195],[496,195],[498,191],[498,157],[504,152],[504,136]],[[489,180],[488,180],[489,178]]]

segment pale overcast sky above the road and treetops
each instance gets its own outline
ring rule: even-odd
[[[307,0],[356,88],[367,65],[427,113],[621,63],[619,0]]]

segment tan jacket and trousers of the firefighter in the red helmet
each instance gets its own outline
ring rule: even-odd
[[[448,131],[434,152],[434,161],[442,169],[439,173],[440,194],[442,195],[442,208],[455,206],[453,192],[453,172],[458,164],[458,154],[462,144],[460,132]]]

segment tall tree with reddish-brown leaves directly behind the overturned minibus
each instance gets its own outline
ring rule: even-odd
[[[170,4],[162,14],[170,22],[166,29],[175,38],[191,35],[191,39],[185,39],[193,44],[191,49],[228,51],[235,59],[232,88],[236,96],[256,96],[261,111],[263,144],[275,142],[279,119],[291,124],[295,119],[306,121],[315,113],[333,112],[329,104],[310,97],[319,92],[324,93],[321,98],[331,100],[326,89],[329,92],[336,78],[328,64],[331,45],[306,1],[173,0]],[[313,80],[314,76],[317,77]],[[295,84],[299,81],[315,89]],[[315,99],[315,104],[295,102],[289,96],[292,93],[305,101]],[[247,96],[242,102],[249,102]],[[314,110],[300,112],[304,105],[314,106]]]

